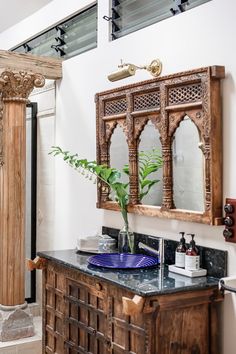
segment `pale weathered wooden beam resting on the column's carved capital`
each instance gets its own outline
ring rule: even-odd
[[[5,69],[32,71],[43,75],[46,79],[58,80],[62,78],[61,59],[0,50],[0,71]]]

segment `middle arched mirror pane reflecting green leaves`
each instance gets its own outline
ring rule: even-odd
[[[139,196],[142,204],[161,206],[162,169],[160,134],[154,124],[148,121],[139,144]]]

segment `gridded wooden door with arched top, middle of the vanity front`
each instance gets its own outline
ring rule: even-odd
[[[106,287],[91,280],[66,279],[65,353],[110,353]]]

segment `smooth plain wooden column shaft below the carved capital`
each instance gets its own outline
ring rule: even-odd
[[[25,301],[25,102],[5,102],[1,180],[0,304]]]

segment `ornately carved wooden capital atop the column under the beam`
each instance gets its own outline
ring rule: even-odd
[[[44,86],[45,79],[40,74],[26,71],[5,70],[0,76],[0,90],[4,101],[27,102],[34,87]]]

